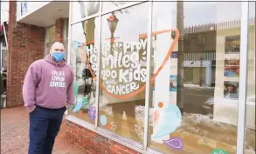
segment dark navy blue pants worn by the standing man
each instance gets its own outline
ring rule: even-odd
[[[37,106],[30,113],[29,154],[52,154],[66,107],[46,109]]]

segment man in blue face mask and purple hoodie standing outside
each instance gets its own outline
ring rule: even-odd
[[[73,71],[65,62],[63,44],[52,44],[47,57],[31,64],[23,97],[30,112],[29,154],[52,154],[64,112],[74,104]]]

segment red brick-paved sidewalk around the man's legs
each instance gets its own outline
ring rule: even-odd
[[[61,129],[52,154],[84,154],[85,151],[67,142],[66,124]],[[1,109],[1,154],[27,154],[29,145],[29,116],[23,106]]]

